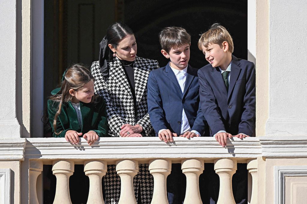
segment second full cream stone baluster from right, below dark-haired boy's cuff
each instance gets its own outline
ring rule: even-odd
[[[184,159],[181,161],[182,173],[187,178],[184,204],[202,204],[199,192],[199,175],[204,171],[204,160]]]

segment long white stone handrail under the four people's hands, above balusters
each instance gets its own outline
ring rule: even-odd
[[[252,159],[261,156],[258,138],[231,138],[223,148],[212,137],[174,138],[165,143],[157,137],[146,138],[99,138],[89,146],[84,138],[72,145],[64,138],[27,138],[25,157],[29,159],[105,159],[108,164],[115,159],[147,158],[216,158]],[[148,162],[146,161],[146,162]],[[111,163],[110,163],[111,164]]]

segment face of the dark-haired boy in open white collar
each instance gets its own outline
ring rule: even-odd
[[[190,59],[190,44],[184,44],[178,48],[170,49],[169,53],[161,50],[161,53],[171,60],[171,66],[177,70],[183,70],[188,66]]]

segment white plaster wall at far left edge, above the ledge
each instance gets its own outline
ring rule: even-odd
[[[16,119],[16,1],[0,1],[0,137],[19,138]]]

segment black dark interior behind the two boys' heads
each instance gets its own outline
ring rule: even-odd
[[[131,0],[125,1],[124,16],[135,33],[138,56],[157,59],[160,66],[168,60],[160,52],[158,33],[167,26],[181,26],[191,34],[189,64],[193,67],[207,64],[197,42],[213,23],[228,29],[234,40],[234,55],[247,59],[247,1]]]

